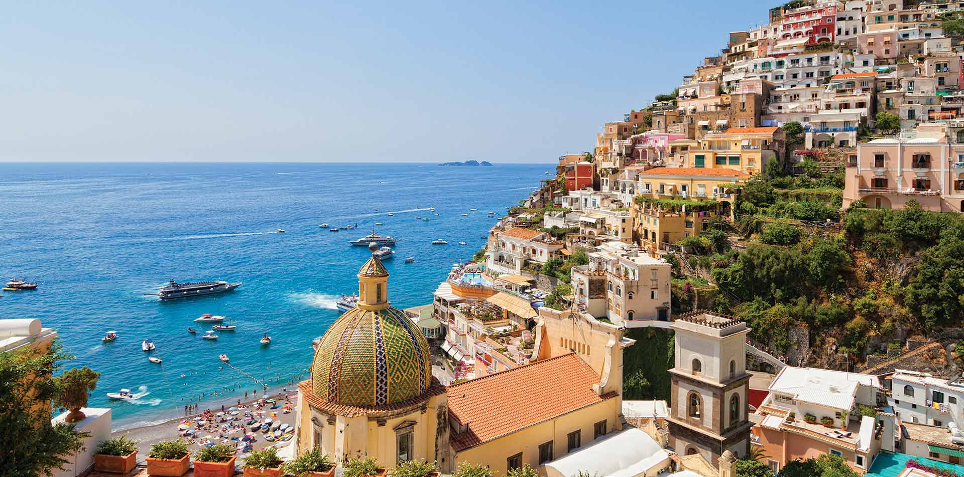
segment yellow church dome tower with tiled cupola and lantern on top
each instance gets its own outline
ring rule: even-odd
[[[372,256],[359,271],[359,302],[322,336],[311,378],[298,384],[297,448],[336,461],[411,459],[448,470],[445,388],[432,377],[428,342],[388,304],[388,272]]]

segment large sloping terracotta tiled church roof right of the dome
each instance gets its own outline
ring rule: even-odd
[[[450,439],[461,452],[616,397],[593,392],[600,377],[575,353],[448,386],[448,410],[469,430]]]

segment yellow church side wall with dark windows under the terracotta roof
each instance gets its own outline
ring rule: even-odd
[[[606,431],[612,432],[618,422],[618,415],[618,400],[607,399],[459,452],[453,461],[456,467],[467,462],[488,465],[493,470],[493,475],[499,476],[505,475],[508,470],[507,459],[522,452],[522,464],[537,468],[540,444],[551,440],[552,458],[558,459],[566,454],[570,433],[579,431],[581,445],[587,445],[593,441],[597,422],[605,419]],[[511,418],[511,416],[500,417]]]

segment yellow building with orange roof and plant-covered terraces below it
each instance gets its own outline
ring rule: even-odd
[[[692,152],[692,151],[690,151]],[[733,189],[749,174],[731,168],[654,168],[639,172],[632,217],[643,248],[656,256],[706,229],[715,216],[732,217]]]

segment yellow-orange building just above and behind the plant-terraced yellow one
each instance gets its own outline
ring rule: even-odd
[[[784,133],[779,127],[731,127],[709,132],[690,145],[683,167],[759,173],[767,161],[780,157],[783,145]]]

